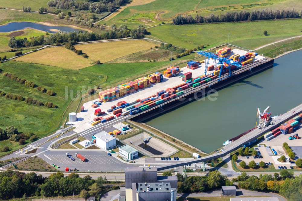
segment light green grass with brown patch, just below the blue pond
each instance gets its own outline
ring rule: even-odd
[[[23,29],[23,30],[11,31],[7,33],[0,32],[0,52],[11,49],[8,46],[8,41],[10,37],[30,39],[31,37],[41,36],[44,35],[45,33],[46,33],[45,31],[36,30],[36,29]],[[7,58],[9,58],[8,55]]]

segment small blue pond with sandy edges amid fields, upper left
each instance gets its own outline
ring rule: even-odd
[[[0,32],[11,32],[22,30],[25,28],[33,28],[42,31],[48,31],[49,33],[56,33],[56,31],[51,31],[51,29],[58,29],[66,32],[77,31],[80,29],[75,29],[69,26],[47,26],[44,24],[34,23],[34,22],[11,22],[0,26]]]

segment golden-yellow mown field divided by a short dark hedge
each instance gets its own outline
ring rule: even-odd
[[[75,46],[76,49],[83,50],[83,53],[86,53],[89,58],[77,55],[65,47],[53,47],[18,57],[16,60],[53,65],[66,69],[81,69],[93,65],[96,60],[108,62],[118,57],[150,49],[150,47],[153,46],[153,43],[149,43],[144,40],[91,43]]]

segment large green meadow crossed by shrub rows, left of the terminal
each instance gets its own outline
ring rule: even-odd
[[[47,89],[53,90],[57,95],[50,97],[46,93],[41,93],[35,88],[26,87],[3,75],[0,75],[0,88],[6,93],[20,94],[24,97],[33,97],[36,100],[50,101],[58,105],[59,108],[47,108],[27,104],[24,101],[11,100],[0,97],[0,127],[13,125],[20,132],[34,132],[37,136],[53,131],[60,123],[61,117],[67,105],[71,101],[71,96],[75,97],[77,90],[82,87],[93,86],[99,83],[100,73],[89,74],[71,69],[61,69],[53,66],[45,66],[24,62],[4,62],[0,65],[4,72],[33,81]],[[104,81],[104,76],[102,76]],[[65,90],[67,90],[65,92]],[[72,95],[69,90],[72,90]],[[65,94],[68,93],[68,94]],[[65,96],[66,95],[66,96]],[[67,98],[67,99],[65,99]],[[16,147],[18,143],[10,144]]]

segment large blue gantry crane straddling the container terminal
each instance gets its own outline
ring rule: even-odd
[[[232,59],[229,59],[229,58],[224,58],[224,57],[217,56],[217,55],[215,55],[212,52],[199,51],[198,54],[200,54],[200,55],[202,55],[202,56],[205,57],[204,75],[207,74],[207,67],[209,65],[210,59],[213,60],[214,68],[217,68],[217,64],[221,65],[221,67],[220,67],[221,70],[219,72],[218,81],[220,81],[221,72],[222,72],[222,69],[223,69],[223,65],[225,63],[229,64],[229,66],[226,67],[226,70],[229,69],[229,76],[232,75],[231,65],[235,65],[235,66],[241,68],[241,64],[239,62],[235,62],[235,61],[233,61]],[[218,61],[218,63],[217,63],[217,61]]]

